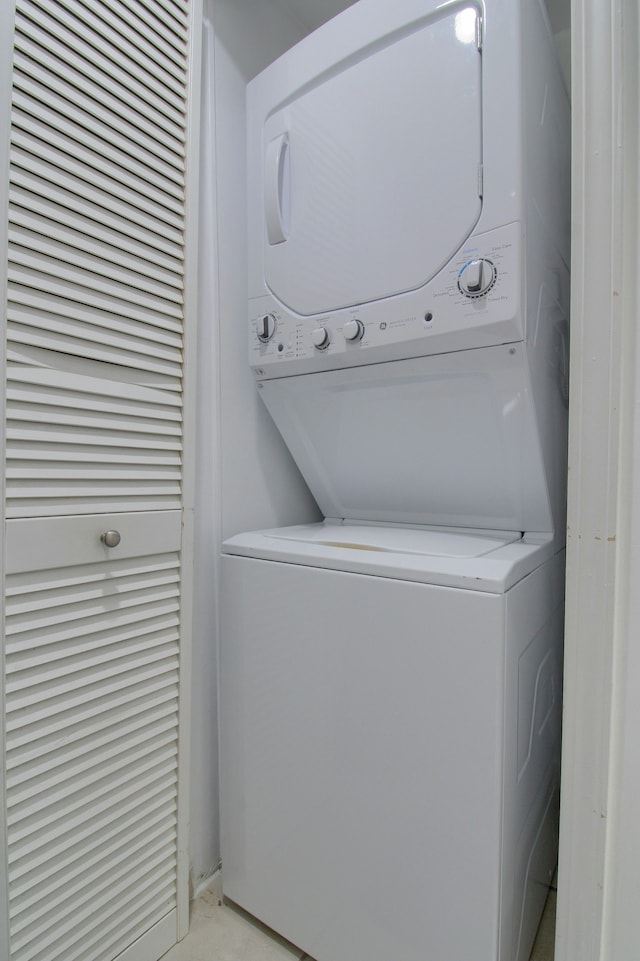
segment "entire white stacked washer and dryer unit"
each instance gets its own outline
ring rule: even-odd
[[[223,888],[317,961],[529,957],[568,111],[539,0],[360,0],[248,88],[250,364],[326,519],[224,545]]]

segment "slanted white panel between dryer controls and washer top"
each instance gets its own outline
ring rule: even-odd
[[[552,530],[521,346],[259,387],[326,517]]]

